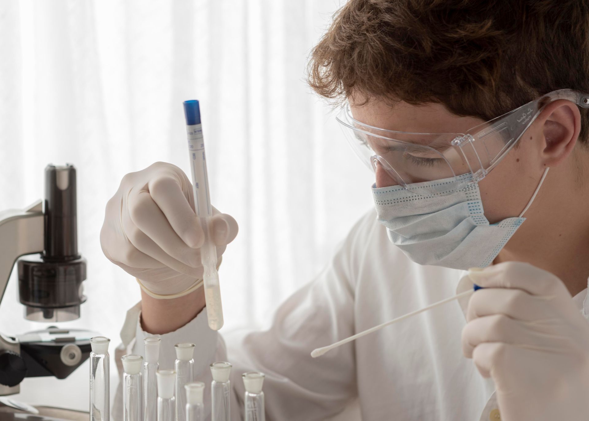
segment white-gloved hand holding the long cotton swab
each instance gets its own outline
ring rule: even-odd
[[[562,281],[521,262],[469,271],[464,355],[497,388],[504,421],[589,419],[589,323]]]

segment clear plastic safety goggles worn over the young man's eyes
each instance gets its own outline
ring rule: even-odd
[[[541,109],[559,99],[589,108],[589,94],[560,89],[472,127],[466,134],[379,129],[355,120],[349,104],[336,118],[352,149],[370,169],[381,165],[399,185],[418,195],[449,195],[482,180],[514,147]],[[443,183],[429,183],[442,179]]]

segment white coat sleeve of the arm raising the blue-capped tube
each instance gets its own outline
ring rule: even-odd
[[[269,329],[245,335],[228,334],[226,347],[220,334],[209,329],[206,311],[202,311],[177,331],[159,335],[160,367],[173,367],[175,343],[195,343],[195,380],[207,385],[204,402],[206,412],[210,412],[209,364],[229,361],[233,364],[232,420],[243,419],[241,374],[246,371],[266,374],[263,390],[268,421],[322,420],[343,410],[356,396],[354,344],[319,358],[312,358],[310,353],[355,333],[352,267],[359,264],[365,252],[357,241],[363,228],[366,223],[360,221],[320,274],[280,305]],[[149,334],[141,330],[138,318],[134,323],[135,338],[128,341],[127,351],[144,355],[143,338]],[[118,390],[117,400],[120,399]],[[115,404],[114,415],[118,405]]]

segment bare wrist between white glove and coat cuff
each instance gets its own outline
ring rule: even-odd
[[[204,305],[204,288],[170,300],[150,297],[141,289],[141,328],[150,334],[173,332],[193,320]]]

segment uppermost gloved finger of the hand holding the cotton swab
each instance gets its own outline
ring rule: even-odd
[[[532,295],[571,297],[556,275],[524,262],[503,262],[482,270],[471,268],[468,277],[484,288],[517,288]]]

